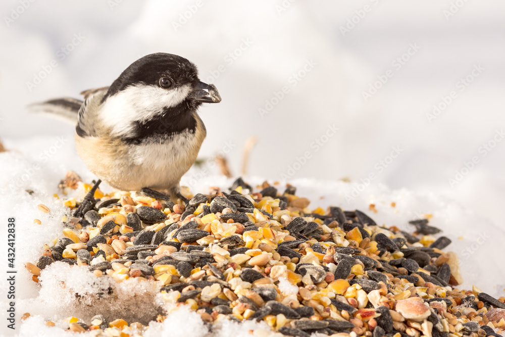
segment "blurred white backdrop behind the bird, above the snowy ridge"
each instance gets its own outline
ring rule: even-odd
[[[0,138],[35,160],[57,136],[73,147],[74,129],[27,104],[78,97],[166,52],[193,61],[223,98],[200,109],[200,157],[225,151],[238,175],[257,136],[250,175],[350,179],[367,194],[372,174],[501,225],[503,2],[8,0],[0,10]],[[86,174],[75,158],[66,165]]]

